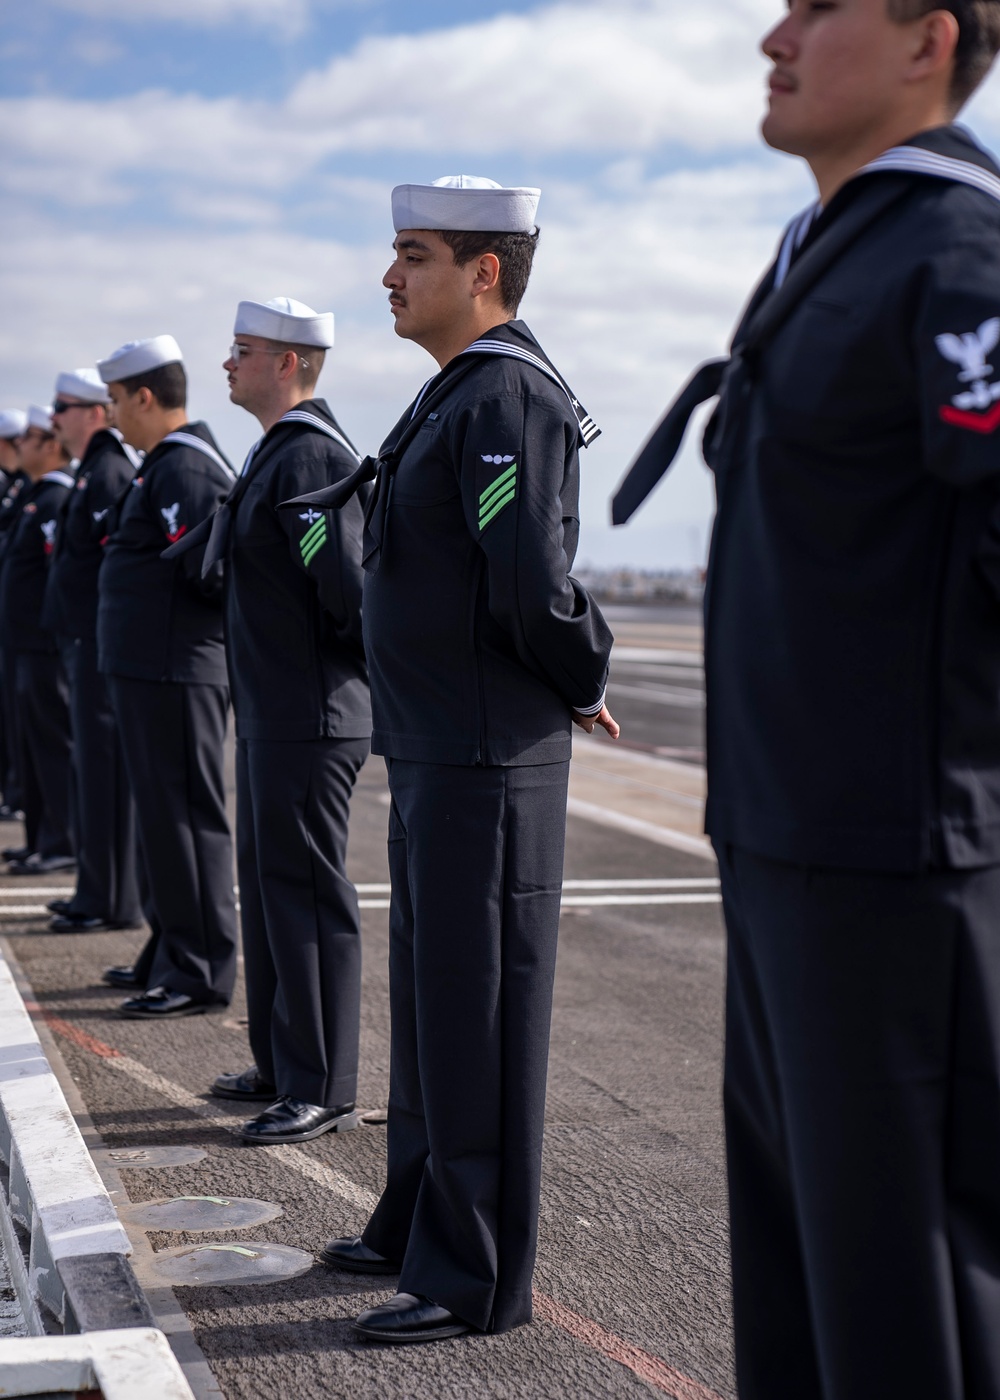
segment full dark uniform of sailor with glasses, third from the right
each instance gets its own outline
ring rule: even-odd
[[[277,505],[356,466],[326,403],[308,399],[263,435],[224,507],[249,1042],[279,1093],[325,1107],[357,1096],[361,928],[346,855],[371,738],[363,501]]]

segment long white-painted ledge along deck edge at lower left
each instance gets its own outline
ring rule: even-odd
[[[130,1254],[132,1245],[1,953],[0,1156],[10,1170],[7,1200],[0,1193],[4,1246],[28,1327],[38,1331],[38,1299],[62,1319],[57,1260]],[[11,1221],[31,1238],[27,1277]]]

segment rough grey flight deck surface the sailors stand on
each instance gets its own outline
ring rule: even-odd
[[[202,1383],[200,1394],[734,1396],[720,1107],[724,939],[714,864],[690,848],[699,815],[690,794],[702,781],[700,634],[693,609],[608,610],[622,652],[609,703],[633,767],[602,769],[611,745],[581,748],[584,799],[591,811],[606,805],[612,825],[570,816],[566,878],[615,883],[567,888],[535,1323],[503,1337],[381,1348],[356,1341],[349,1323],[388,1296],[392,1280],[315,1263],[283,1282],[178,1288],[218,1386]],[[630,804],[655,820],[661,792],[660,825],[681,832],[688,850],[613,826],[613,812],[629,819]],[[370,759],[350,851],[352,874],[366,885],[388,878],[387,802],[382,762]],[[0,827],[7,833],[15,829]],[[251,1197],[283,1211],[244,1231],[153,1232],[153,1249],[265,1240],[315,1253],[332,1235],[360,1231],[382,1183],[384,1127],[294,1148],[241,1145],[227,1124],[245,1110],[204,1091],[220,1070],[248,1063],[242,994],[220,1015],[164,1026],[120,1021],[120,994],[101,987],[99,972],[127,962],[141,935],[50,935],[22,910],[42,904],[45,885],[64,889],[66,879],[32,879],[31,892],[21,883],[0,881],[0,931],[105,1144],[206,1152],[155,1169],[129,1168],[115,1154],[130,1198]],[[375,907],[363,914],[360,1100],[378,1109],[388,1089],[388,918],[377,907],[384,892],[364,900]],[[147,1267],[148,1250],[137,1268],[150,1287]]]

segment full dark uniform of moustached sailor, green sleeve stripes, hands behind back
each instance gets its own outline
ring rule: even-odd
[[[431,381],[368,512],[392,1065],[364,1240],[401,1291],[504,1331],[531,1317],[570,711],[599,706],[611,634],[570,577],[581,410],[521,322],[483,342],[514,357]]]

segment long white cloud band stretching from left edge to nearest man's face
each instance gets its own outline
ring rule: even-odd
[[[49,179],[50,197],[87,206],[127,200],[136,176],[181,178],[185,195],[207,185],[277,196],[345,153],[409,153],[441,174],[443,151],[483,165],[500,153],[745,148],[756,140],[755,45],[770,10],[772,0],[720,0],[707,18],[688,0],[556,4],[370,38],[279,102],[164,91],[7,98],[0,179],[13,193]]]

